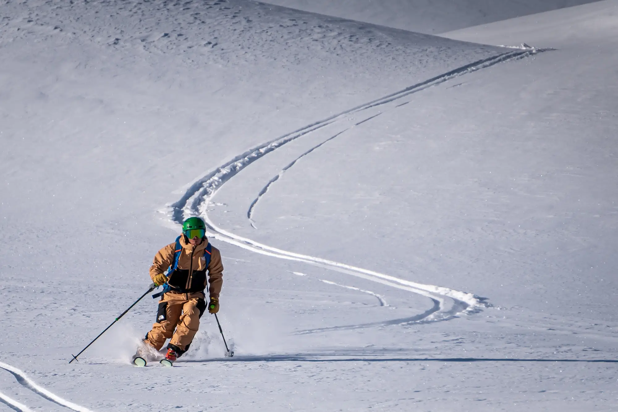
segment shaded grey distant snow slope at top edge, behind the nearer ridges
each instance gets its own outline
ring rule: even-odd
[[[434,34],[577,6],[593,0],[268,0],[266,2],[412,32]]]

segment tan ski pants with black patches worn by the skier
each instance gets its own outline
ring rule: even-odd
[[[156,323],[146,334],[146,342],[160,350],[171,338],[171,345],[186,351],[200,327],[200,317],[205,310],[205,296],[201,292],[164,294],[159,301]]]

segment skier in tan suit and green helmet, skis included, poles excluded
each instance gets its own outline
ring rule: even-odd
[[[169,272],[165,275],[168,268]],[[206,283],[206,270],[210,288]],[[156,323],[146,333],[142,345],[133,356],[133,363],[145,366],[146,359],[156,359],[158,351],[170,338],[161,364],[171,366],[188,350],[200,326],[200,317],[206,310],[205,289],[210,292],[208,313],[216,314],[219,311],[222,272],[221,252],[209,244],[204,221],[198,217],[185,220],[182,234],[176,242],[163,247],[155,255],[150,267],[153,282],[164,285],[164,290]]]

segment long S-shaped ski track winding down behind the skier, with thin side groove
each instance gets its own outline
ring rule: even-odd
[[[277,249],[276,247],[267,246],[265,244],[261,244],[260,242],[253,241],[252,239],[244,238],[242,236],[238,236],[236,234],[230,233],[226,230],[219,228],[211,219],[208,217],[208,205],[210,204],[211,199],[216,194],[216,192],[221,189],[221,186],[227,182],[229,179],[234,177],[241,170],[246,168],[248,165],[251,165],[254,161],[259,160],[266,154],[273,152],[277,148],[285,145],[286,143],[291,142],[292,140],[298,139],[303,135],[307,135],[313,131],[321,129],[322,127],[329,126],[335,122],[346,122],[353,120],[353,114],[362,112],[367,109],[375,108],[378,106],[386,105],[387,103],[391,103],[393,101],[399,100],[407,95],[412,93],[420,92],[425,88],[438,85],[446,82],[447,80],[453,79],[454,77],[459,77],[460,75],[468,74],[471,72],[478,71],[480,69],[485,69],[487,67],[494,66],[494,64],[498,64],[500,62],[511,61],[514,59],[521,59],[533,54],[544,51],[544,49],[527,49],[527,50],[517,50],[517,51],[509,51],[507,53],[498,54],[496,56],[486,58],[480,61],[473,62],[471,64],[467,64],[465,66],[459,67],[458,69],[454,69],[452,71],[446,72],[444,74],[438,75],[431,79],[425,80],[424,82],[412,85],[410,87],[404,88],[399,92],[391,93],[390,95],[384,96],[382,98],[370,101],[363,105],[357,106],[352,109],[348,109],[342,113],[335,114],[329,118],[323,119],[321,121],[309,124],[308,126],[302,127],[302,129],[298,129],[297,131],[291,132],[289,134],[278,137],[277,139],[273,139],[265,144],[262,144],[258,147],[247,150],[247,152],[242,153],[241,155],[235,157],[231,161],[227,162],[225,165],[220,166],[214,171],[206,174],[203,178],[198,179],[193,182],[193,184],[188,187],[187,191],[184,195],[175,202],[174,204],[168,205],[167,213],[169,214],[170,219],[173,222],[181,224],[185,218],[199,215],[204,218],[206,221],[206,225],[210,230],[212,236],[216,239],[219,239],[224,242],[228,242],[234,244],[239,247],[243,247],[244,249],[248,249],[250,251],[277,257],[279,259],[286,260],[295,260],[297,262],[304,262],[306,264],[315,265],[318,267],[326,268],[329,270],[336,270],[337,272],[347,273],[349,275],[363,278],[366,280],[375,281],[376,283],[381,283],[383,285],[391,286],[393,288],[398,288],[401,290],[410,291],[412,293],[421,294],[430,298],[433,301],[433,307],[428,311],[417,315],[412,318],[407,319],[396,319],[388,322],[380,322],[375,325],[386,325],[386,324],[403,324],[403,323],[412,323],[412,322],[430,322],[435,320],[447,320],[452,319],[457,314],[463,312],[473,312],[482,306],[480,299],[477,299],[473,294],[466,293],[462,291],[452,290],[450,288],[444,288],[442,286],[436,285],[424,285],[422,283],[417,283],[413,281],[403,280],[400,278],[392,277],[390,275],[386,275],[384,273],[374,272],[373,270],[366,270],[360,267],[355,267],[352,265],[342,264],[339,262],[334,262],[332,260],[321,259],[319,257],[313,257],[310,255],[298,254],[295,252],[284,251],[282,249]],[[398,103],[398,102],[396,102]],[[407,102],[405,102],[407,103]],[[405,103],[398,103],[397,106],[404,105]],[[352,126],[356,126],[362,122],[368,121],[371,118],[377,116],[371,115],[363,121],[353,123]],[[281,173],[275,176],[271,181],[266,184],[266,186],[260,191],[258,197],[253,201],[250,209],[247,212],[247,217],[251,218],[252,210],[255,208],[255,204],[260,200],[260,197],[268,191],[269,186],[273,184],[273,182],[277,181],[282,176],[286,170],[292,167],[296,161],[308,153],[311,153],[315,148],[320,147],[324,143],[329,140],[334,139],[337,135],[340,135],[342,132],[347,131],[350,127],[347,127],[344,131],[339,131],[336,135],[330,137],[326,141],[322,142],[319,145],[311,148],[307,152],[303,153],[296,160],[292,161],[289,165],[287,165]],[[255,226],[254,226],[255,227]],[[373,326],[374,324],[367,324],[364,326]],[[341,327],[341,328],[355,328],[357,326],[350,327]],[[307,330],[297,333],[313,333],[320,332],[323,330],[337,330],[340,327],[335,328],[326,328],[326,329],[318,329],[318,330]]]

